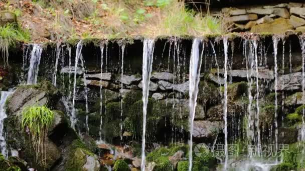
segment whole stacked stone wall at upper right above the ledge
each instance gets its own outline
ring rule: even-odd
[[[280,3],[256,7],[225,7],[221,12],[241,31],[283,33],[305,32],[305,3]]]

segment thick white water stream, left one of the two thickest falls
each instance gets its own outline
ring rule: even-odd
[[[150,74],[153,67],[154,58],[154,39],[145,39],[143,42],[143,66],[142,66],[142,100],[143,100],[143,132],[142,132],[142,152],[141,152],[141,171],[145,170],[145,131],[146,131],[146,109],[148,103]]]

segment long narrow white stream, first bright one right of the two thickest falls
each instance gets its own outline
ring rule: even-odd
[[[224,36],[223,37],[223,46],[224,46],[224,53],[225,53],[225,63],[224,63],[224,102],[223,102],[223,119],[225,121],[225,126],[224,126],[224,134],[225,134],[225,163],[224,163],[224,170],[227,169],[227,164],[228,164],[228,121],[227,121],[227,102],[228,102],[228,97],[227,97],[227,60],[228,60],[228,37]],[[190,170],[191,171],[191,170]]]

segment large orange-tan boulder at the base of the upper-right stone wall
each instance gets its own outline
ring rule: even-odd
[[[254,25],[251,28],[251,32],[272,32],[272,33],[283,33],[293,26],[290,24],[289,19],[277,18],[273,22],[262,23]]]

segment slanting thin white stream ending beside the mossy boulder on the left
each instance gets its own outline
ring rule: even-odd
[[[74,105],[75,105],[75,93],[76,93],[76,74],[77,74],[78,60],[79,60],[79,58],[81,56],[82,48],[83,48],[83,41],[80,40],[77,43],[77,46],[76,46],[75,64],[74,64],[74,85],[73,85],[72,113],[71,113],[71,117],[70,117],[71,127],[73,129],[75,129],[75,123],[76,123],[75,108],[74,108]]]

